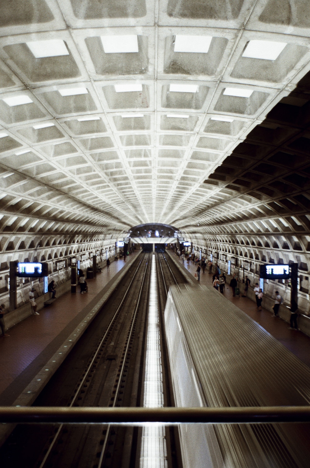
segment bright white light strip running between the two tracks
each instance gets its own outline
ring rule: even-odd
[[[152,255],[143,406],[159,408],[163,404],[156,260],[155,255]],[[167,468],[165,426],[152,424],[142,428],[140,468]]]

